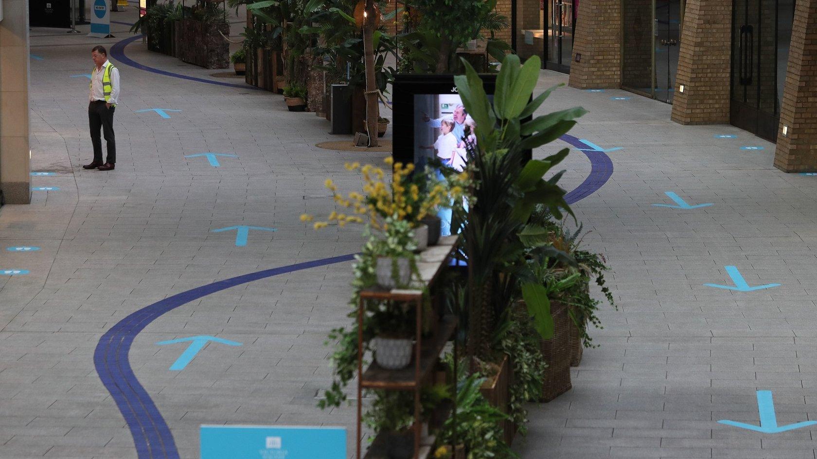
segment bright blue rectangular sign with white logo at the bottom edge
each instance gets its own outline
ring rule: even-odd
[[[346,429],[201,426],[201,459],[346,459]]]

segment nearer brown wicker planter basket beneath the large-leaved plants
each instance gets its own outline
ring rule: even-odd
[[[549,340],[541,340],[542,356],[547,362],[545,381],[542,384],[540,402],[550,402],[560,394],[570,390],[570,319],[568,306],[560,301],[551,302],[551,315],[555,323],[555,332]]]

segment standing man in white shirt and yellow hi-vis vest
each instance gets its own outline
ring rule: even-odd
[[[94,160],[83,166],[83,169],[112,171],[116,164],[114,110],[119,99],[119,69],[110,63],[104,47],[94,47],[91,59],[95,67],[91,74],[91,92],[88,96],[91,100],[88,104],[88,124],[91,127],[91,142],[94,145]],[[105,163],[102,163],[100,128],[108,149]]]

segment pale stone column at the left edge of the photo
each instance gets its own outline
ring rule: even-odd
[[[29,2],[3,0],[0,22],[0,189],[9,204],[28,204]]]

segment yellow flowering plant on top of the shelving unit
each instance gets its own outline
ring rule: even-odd
[[[458,180],[438,181],[430,171],[415,172],[411,163],[394,163],[392,158],[383,162],[392,167],[391,180],[386,179],[386,172],[381,167],[346,163],[347,171],[359,171],[363,176],[363,193],[342,194],[332,179],[326,179],[324,185],[332,192],[335,203],[350,212],[333,211],[327,221],[315,221],[315,230],[325,228],[330,222],[337,222],[338,226],[368,223],[374,230],[386,230],[386,218],[408,221],[416,227],[436,208],[448,206],[452,199],[461,199],[465,193],[465,188],[458,183],[458,180],[467,180],[465,172],[456,177]],[[315,217],[309,214],[301,215],[301,221],[314,220]]]

